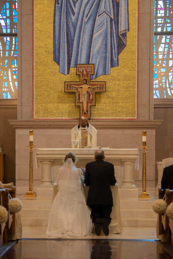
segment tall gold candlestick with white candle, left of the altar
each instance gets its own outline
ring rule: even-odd
[[[33,191],[33,131],[30,130],[29,132],[29,146],[30,148],[30,163],[29,163],[29,191],[26,192],[25,198],[26,199],[36,199],[36,193]]]

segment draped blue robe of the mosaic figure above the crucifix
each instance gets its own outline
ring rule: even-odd
[[[53,60],[69,74],[94,64],[94,79],[118,66],[129,31],[128,0],[55,0]]]

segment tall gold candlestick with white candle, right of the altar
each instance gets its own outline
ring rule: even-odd
[[[146,192],[146,148],[147,146],[147,132],[142,132],[142,144],[143,146],[143,164],[142,164],[142,193],[139,194],[139,198],[150,198],[148,192]]]

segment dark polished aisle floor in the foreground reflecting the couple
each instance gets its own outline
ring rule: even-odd
[[[166,259],[170,253],[155,241],[19,240],[1,259]]]

